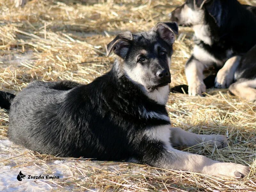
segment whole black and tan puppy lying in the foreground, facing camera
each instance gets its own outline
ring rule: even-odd
[[[40,153],[61,157],[130,160],[164,169],[244,177],[249,168],[176,150],[201,141],[227,145],[224,135],[171,128],[165,108],[171,82],[174,22],[148,32],[125,32],[107,45],[110,72],[88,85],[33,82],[12,100],[8,137]],[[6,100],[8,102],[8,100]]]

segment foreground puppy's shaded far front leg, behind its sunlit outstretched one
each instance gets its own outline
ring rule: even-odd
[[[171,127],[170,141],[172,146],[194,146],[201,142],[216,144],[218,148],[226,147],[227,137],[225,135],[203,135],[184,131],[180,127]]]

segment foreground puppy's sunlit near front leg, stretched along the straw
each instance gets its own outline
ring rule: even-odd
[[[168,126],[146,132],[146,138],[140,139],[140,148],[137,148],[137,157],[141,163],[216,176],[244,177],[249,173],[249,168],[244,165],[221,163],[202,155],[176,150],[172,148],[167,133]]]

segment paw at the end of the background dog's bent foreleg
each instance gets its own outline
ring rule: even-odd
[[[222,68],[217,73],[215,78],[216,88],[228,88],[234,80],[233,73],[230,73],[230,69]]]

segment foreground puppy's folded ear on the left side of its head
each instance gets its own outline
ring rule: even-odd
[[[129,47],[131,46],[131,42],[132,33],[130,31],[118,34],[113,41],[108,43],[107,56],[113,50],[116,55],[124,58],[129,50]]]

